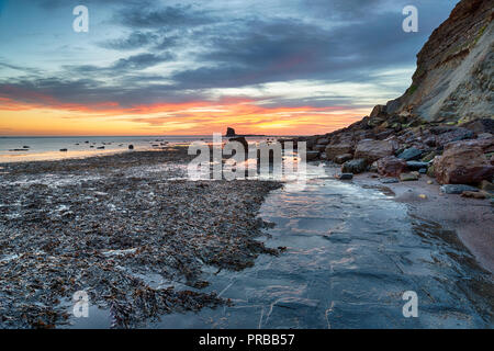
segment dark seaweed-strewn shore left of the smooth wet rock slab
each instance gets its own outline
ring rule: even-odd
[[[279,184],[189,182],[189,159],[177,147],[2,165],[1,326],[64,326],[80,290],[113,327],[228,304],[194,290],[209,284],[202,268],[240,270],[279,253],[256,240],[269,225],[259,206]],[[154,275],[173,283],[158,288]]]

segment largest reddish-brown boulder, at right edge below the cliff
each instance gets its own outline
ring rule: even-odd
[[[448,147],[434,161],[436,178],[441,184],[472,184],[492,180],[494,166],[481,147],[459,143]]]

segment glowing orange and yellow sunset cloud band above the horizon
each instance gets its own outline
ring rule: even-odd
[[[0,97],[1,135],[206,135],[226,126],[243,134],[324,134],[368,113],[340,106],[265,106],[255,99],[228,97],[130,107],[115,102],[63,103],[26,91],[22,97]]]

